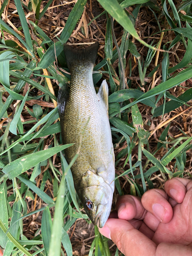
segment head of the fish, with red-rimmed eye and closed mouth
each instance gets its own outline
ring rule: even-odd
[[[113,191],[113,185],[110,187],[106,183],[104,186],[89,186],[82,191],[84,209],[92,223],[100,228],[104,226],[110,215]]]

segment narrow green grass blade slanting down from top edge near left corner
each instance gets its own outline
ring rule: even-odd
[[[22,28],[24,30],[24,34],[25,34],[25,39],[26,39],[26,43],[29,46],[31,52],[33,52],[33,45],[32,45],[32,40],[31,40],[31,35],[29,33],[29,27],[27,24],[27,20],[26,20],[26,16],[22,7],[22,3],[20,2],[20,0],[14,0],[15,2],[15,6],[17,8],[17,12],[20,18],[20,23],[22,23]]]

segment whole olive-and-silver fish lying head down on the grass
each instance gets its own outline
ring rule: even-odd
[[[84,49],[65,45],[71,73],[70,90],[58,92],[58,112],[65,156],[70,163],[77,195],[94,225],[108,220],[114,193],[115,157],[108,115],[109,88],[102,81],[98,93],[93,84],[93,68],[99,44]],[[80,151],[79,151],[80,149]]]

